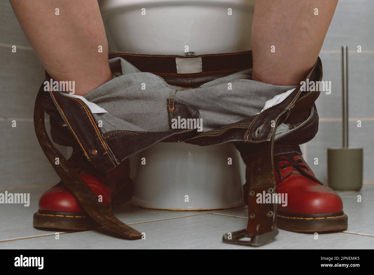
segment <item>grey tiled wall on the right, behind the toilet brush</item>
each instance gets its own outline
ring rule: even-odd
[[[373,14],[374,1],[339,0],[319,55],[323,80],[331,81],[331,94],[321,92],[316,101],[319,130],[313,140],[301,145],[301,149],[324,183],[327,182],[327,148],[342,146],[342,45],[349,49],[349,146],[364,148],[364,181],[374,181]],[[361,53],[357,52],[358,46],[362,48]],[[358,120],[361,120],[361,128],[357,127]],[[318,165],[313,164],[315,158],[318,158]]]

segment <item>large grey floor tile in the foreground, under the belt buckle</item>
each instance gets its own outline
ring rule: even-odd
[[[219,248],[219,249],[294,249],[294,248],[369,248],[374,240],[369,236],[347,233],[301,234],[280,230],[277,240],[259,248],[224,244],[222,235],[245,228],[246,219],[204,214],[179,219],[135,224],[132,227],[145,233],[145,239],[126,241],[102,231],[85,231],[55,236],[22,239],[0,243],[0,248]]]

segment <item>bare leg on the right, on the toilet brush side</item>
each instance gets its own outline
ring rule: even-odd
[[[273,85],[300,84],[317,60],[337,3],[257,0],[252,24],[253,79]]]

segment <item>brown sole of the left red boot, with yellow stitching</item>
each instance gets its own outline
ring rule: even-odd
[[[100,227],[100,224],[86,213],[38,210],[34,214],[33,226],[40,229],[88,230]]]

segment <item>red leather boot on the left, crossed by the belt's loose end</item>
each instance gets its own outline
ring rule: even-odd
[[[111,209],[113,205],[123,204],[132,197],[128,161],[106,174],[93,169],[80,157],[80,153],[73,154],[69,162],[106,207]],[[34,227],[37,228],[86,230],[98,226],[61,181],[43,193],[39,199],[39,210],[34,214]]]

